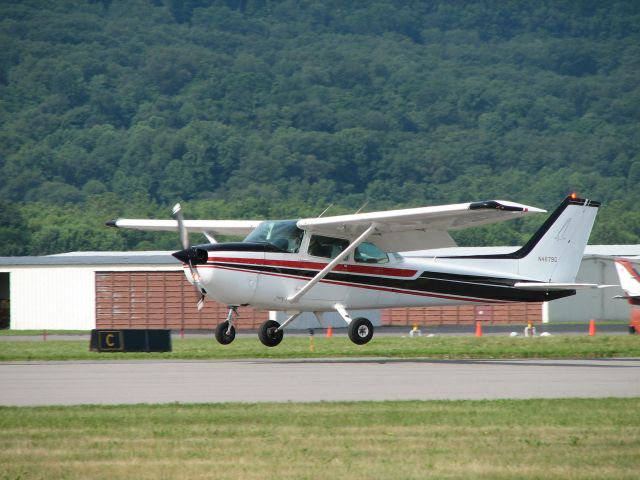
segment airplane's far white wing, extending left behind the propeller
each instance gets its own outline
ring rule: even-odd
[[[185,220],[184,227],[188,232],[203,233],[211,242],[215,235],[246,236],[258,226],[262,220]],[[176,220],[149,220],[119,218],[106,223],[109,227],[129,228],[146,231],[178,231]]]

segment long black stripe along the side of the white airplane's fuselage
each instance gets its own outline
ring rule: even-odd
[[[227,262],[209,262],[208,265],[231,268],[238,270],[251,270],[256,273],[287,275],[294,277],[313,278],[316,270],[298,268],[248,265],[245,263],[234,264]],[[532,291],[515,288],[517,280],[483,277],[474,275],[457,275],[452,273],[439,273],[424,271],[413,280],[379,277],[375,275],[354,275],[351,273],[331,272],[326,281],[341,282],[354,287],[370,287],[381,289],[394,289],[407,291],[411,294],[452,295],[461,297],[473,297],[490,301],[509,302],[545,302],[558,298],[574,295],[575,290],[561,290],[553,292]]]

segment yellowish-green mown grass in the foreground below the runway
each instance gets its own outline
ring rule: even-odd
[[[640,399],[0,408],[1,479],[635,479]]]

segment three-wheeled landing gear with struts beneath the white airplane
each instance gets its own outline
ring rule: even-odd
[[[347,333],[349,339],[356,345],[364,345],[373,338],[373,324],[364,317],[352,319],[349,312],[342,306],[334,307],[348,325]],[[282,325],[275,320],[267,320],[258,329],[258,338],[266,347],[275,347],[282,342],[284,337],[284,327],[293,322],[302,312],[294,313],[287,318]],[[315,312],[314,312],[315,313]],[[316,313],[316,317],[321,322],[321,314]],[[233,326],[234,320],[238,317],[238,307],[230,306],[227,319],[216,327],[216,340],[222,345],[228,345],[236,337],[236,329]]]

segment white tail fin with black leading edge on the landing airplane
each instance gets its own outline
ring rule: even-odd
[[[564,199],[533,237],[511,254],[520,275],[549,283],[576,279],[600,203],[571,195]]]

